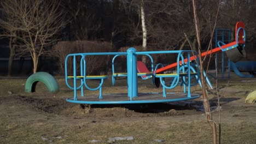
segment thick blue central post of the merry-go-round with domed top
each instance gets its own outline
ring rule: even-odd
[[[136,49],[131,47],[127,50],[127,85],[128,97],[132,100],[138,96],[137,87],[137,56]]]

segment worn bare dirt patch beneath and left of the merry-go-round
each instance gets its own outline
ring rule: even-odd
[[[196,104],[182,103],[162,104],[124,104],[124,105],[85,105],[71,104],[65,100],[53,98],[35,98],[25,95],[5,98],[3,103],[15,99],[15,104],[26,105],[28,109],[42,113],[51,113],[67,117],[161,117],[186,115],[185,110],[195,110]]]

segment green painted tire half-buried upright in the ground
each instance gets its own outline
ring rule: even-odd
[[[59,86],[55,78],[52,75],[45,72],[37,72],[28,77],[25,85],[25,92],[35,92],[38,81],[43,82],[50,93],[59,92]]]

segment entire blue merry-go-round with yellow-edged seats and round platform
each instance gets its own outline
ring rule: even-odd
[[[177,62],[180,64],[177,65],[177,73],[175,74],[156,74],[153,71],[149,73],[137,73],[137,55],[153,55],[167,53],[170,55],[178,55]],[[199,94],[192,94],[190,92],[191,87],[191,78],[199,77],[198,68],[193,68],[190,65],[190,61],[185,63],[184,56],[190,58],[190,55],[197,55],[195,51],[146,51],[146,52],[137,52],[136,49],[130,48],[127,52],[98,52],[98,53],[74,53],[69,54],[66,57],[65,61],[65,77],[66,84],[69,88],[73,89],[74,97],[66,99],[71,103],[79,104],[136,104],[136,103],[164,103],[170,101],[181,101],[181,100],[190,100],[199,98]],[[120,55],[127,57],[127,73],[113,73],[112,78],[117,76],[126,76],[127,77],[127,94],[102,94],[102,85],[104,79],[107,79],[107,75],[100,76],[88,76],[86,75],[86,61],[85,57],[88,56],[100,56],[100,55],[114,55],[114,58]],[[149,56],[150,57],[150,56]],[[69,58],[73,58],[73,76],[68,76],[71,71],[67,71],[67,62]],[[114,59],[113,58],[113,59]],[[77,62],[80,63],[79,75],[77,75]],[[195,59],[198,61],[198,58]],[[151,76],[159,77],[160,82],[163,86],[162,93],[138,93],[138,83],[137,76]],[[165,78],[172,78],[170,86],[166,85]],[[98,79],[100,84],[96,88],[91,88],[88,86],[87,82],[89,79]],[[73,86],[69,84],[72,80]],[[172,89],[182,81],[184,87],[183,93],[167,93],[166,89]],[[196,82],[197,82],[196,81]],[[113,81],[114,82],[114,81]],[[79,84],[78,84],[79,83]],[[78,84],[78,85],[77,85]],[[192,83],[195,85],[195,83]],[[84,86],[90,91],[99,91],[98,96],[96,95],[86,95],[84,96]],[[77,95],[78,89],[81,91],[81,96]]]

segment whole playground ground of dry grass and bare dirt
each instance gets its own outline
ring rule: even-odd
[[[0,79],[0,143],[212,143],[200,98],[170,104],[79,105],[65,101],[72,91],[62,77],[57,77],[60,92],[56,94],[48,93],[40,82],[35,93],[25,93],[25,82],[26,77]],[[150,82],[139,80],[138,91],[161,92]],[[125,93],[125,83],[120,79],[112,87],[109,79],[103,93]],[[232,73],[230,80],[219,79],[222,143],[255,143],[256,105],[245,104],[254,89],[255,78]],[[201,93],[199,86],[191,91]],[[214,121],[218,121],[216,90],[209,92]],[[110,140],[116,137],[129,140]]]

